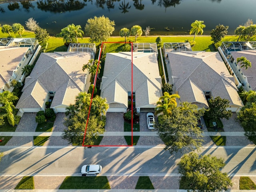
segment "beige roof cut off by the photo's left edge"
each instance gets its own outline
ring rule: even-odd
[[[28,51],[28,47],[0,47],[0,87],[3,87],[10,80],[20,61],[22,61]]]

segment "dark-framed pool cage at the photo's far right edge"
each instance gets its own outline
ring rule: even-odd
[[[231,51],[256,50],[256,41],[222,42],[220,48],[226,58],[229,58]]]

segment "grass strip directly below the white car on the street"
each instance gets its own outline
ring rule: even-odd
[[[110,189],[110,185],[106,176],[68,176],[64,179],[59,189]]]

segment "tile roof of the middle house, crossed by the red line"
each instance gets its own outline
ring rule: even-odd
[[[117,102],[113,98],[120,98],[119,102],[127,106],[128,95],[124,93],[132,91],[133,76],[136,108],[146,105],[155,106],[161,91],[157,55],[134,52],[133,65],[131,65],[131,58],[131,52],[107,53],[102,77],[102,97],[106,98],[108,103]],[[132,69],[133,73],[131,73]]]

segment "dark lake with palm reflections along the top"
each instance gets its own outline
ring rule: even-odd
[[[84,29],[88,18],[104,15],[115,21],[114,36],[136,24],[150,26],[150,35],[186,35],[195,20],[204,21],[205,35],[218,24],[234,34],[248,18],[256,23],[255,7],[256,0],[37,0],[0,4],[0,24],[26,26],[33,17],[55,35],[72,23]]]

